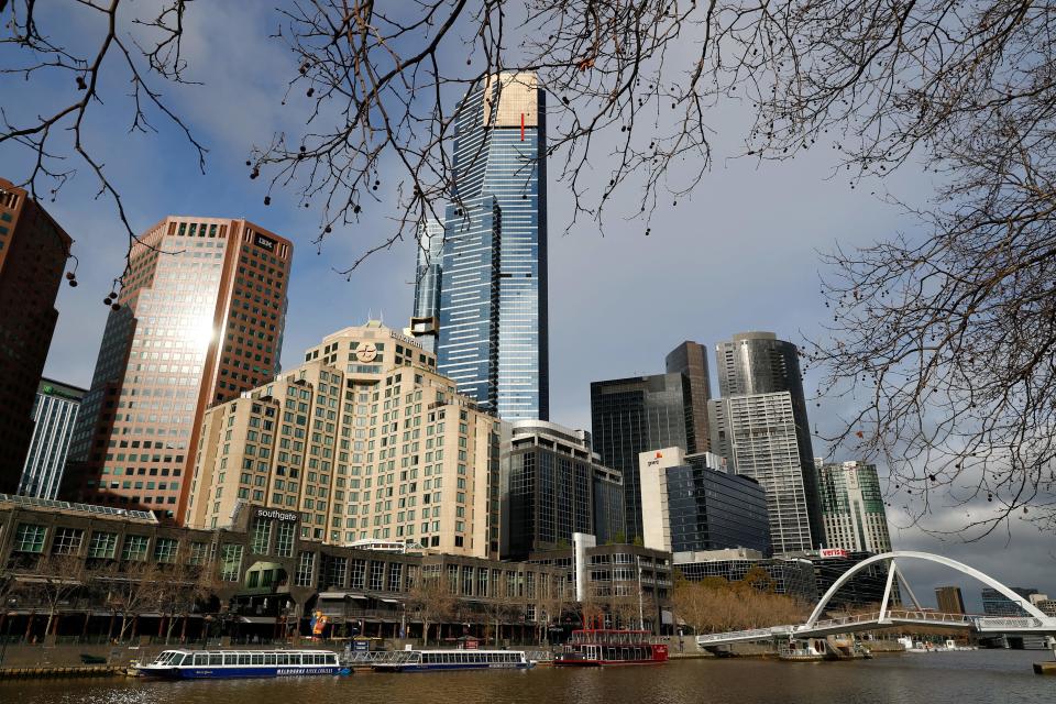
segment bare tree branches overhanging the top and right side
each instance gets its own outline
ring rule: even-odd
[[[41,4],[0,2],[3,41],[23,59],[4,70],[30,86],[68,76],[72,95],[50,92],[51,109],[21,101],[30,117],[4,116],[0,145],[32,156],[21,180],[34,196],[59,189],[73,163],[87,166],[131,248],[85,127],[120,82],[102,73],[121,73],[132,129],[164,120],[205,167],[205,147],[158,87],[196,68],[182,45],[196,8],[166,0],[134,18],[128,0],[81,3],[106,20],[91,34]],[[721,107],[747,113],[733,156],[832,147],[851,187],[922,165],[937,190],[908,207],[925,235],[826,260],[832,329],[811,341],[809,361],[824,375],[818,396],[839,398],[843,413],[823,438],[882,458],[895,488],[923,495],[922,513],[942,492],[969,505],[966,521],[981,532],[1035,507],[1030,517],[1054,527],[1053,3],[317,0],[276,12],[275,40],[292,52],[283,101],[306,127],[254,148],[246,175],[263,176],[265,204],[286,189],[315,206],[316,242],[367,209],[392,216],[393,230],[362,243],[348,274],[457,199],[448,145],[458,121],[482,109],[460,98],[508,68],[538,74],[550,97],[550,177],[574,199],[569,228],[581,218],[601,227],[615,209],[648,234],[654,210],[676,207],[708,169],[708,118]],[[59,43],[61,25],[91,50]],[[62,142],[70,134],[73,146]],[[383,200],[383,180],[394,197]]]

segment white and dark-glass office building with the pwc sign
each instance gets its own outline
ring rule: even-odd
[[[642,452],[638,475],[647,548],[770,553],[766,492],[750,477],[726,473],[717,455],[686,455],[681,448]]]

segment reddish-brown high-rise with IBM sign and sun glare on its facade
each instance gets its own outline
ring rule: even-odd
[[[183,520],[206,409],[278,371],[293,255],[245,220],[173,216],[140,235],[70,447],[80,497]]]

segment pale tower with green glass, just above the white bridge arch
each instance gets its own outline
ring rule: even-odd
[[[891,534],[877,466],[864,462],[815,460],[825,547],[851,552],[890,552]]]

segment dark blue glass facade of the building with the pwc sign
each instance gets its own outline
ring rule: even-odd
[[[666,470],[671,551],[749,548],[769,554],[767,495],[759,483],[690,462]]]

